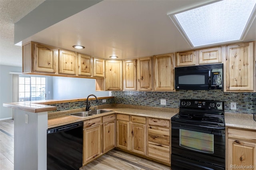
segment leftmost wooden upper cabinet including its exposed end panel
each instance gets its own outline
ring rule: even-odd
[[[22,46],[23,73],[50,73],[58,69],[58,49],[30,42]]]

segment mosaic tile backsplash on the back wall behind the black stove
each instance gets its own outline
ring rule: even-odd
[[[180,99],[204,99],[224,101],[225,112],[256,113],[256,93],[226,93],[223,90],[180,90],[176,92],[154,91],[112,91],[114,103],[153,107],[179,108]],[[160,105],[166,99],[166,105]],[[230,102],[236,102],[236,110],[230,109]]]

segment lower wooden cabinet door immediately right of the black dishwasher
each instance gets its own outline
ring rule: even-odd
[[[102,153],[101,125],[84,129],[84,164]]]

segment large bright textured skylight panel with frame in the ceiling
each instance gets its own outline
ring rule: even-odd
[[[256,0],[222,0],[168,14],[192,47],[242,40],[255,17]]]

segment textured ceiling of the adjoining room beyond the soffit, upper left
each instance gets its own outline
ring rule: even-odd
[[[0,0],[0,64],[22,66],[22,47],[14,45],[14,23],[44,0]]]

